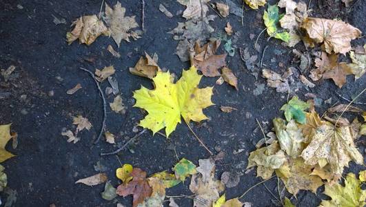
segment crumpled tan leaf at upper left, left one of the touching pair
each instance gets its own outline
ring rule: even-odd
[[[72,22],[74,30],[66,34],[69,45],[79,39],[80,43],[90,46],[99,35],[108,35],[108,29],[103,21],[99,20],[96,15],[83,16]]]

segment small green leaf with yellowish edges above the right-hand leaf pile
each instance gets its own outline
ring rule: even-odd
[[[301,101],[298,97],[294,96],[288,103],[281,107],[281,110],[285,111],[285,117],[287,121],[295,119],[300,124],[306,123],[306,115],[304,110],[310,107],[309,103]]]

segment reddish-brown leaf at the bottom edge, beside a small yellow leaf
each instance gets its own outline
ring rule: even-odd
[[[133,207],[136,207],[143,203],[145,198],[150,197],[152,188],[146,178],[146,172],[140,168],[134,168],[130,175],[133,177],[132,181],[119,185],[116,193],[123,197],[133,195]]]

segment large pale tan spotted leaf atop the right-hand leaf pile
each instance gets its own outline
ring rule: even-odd
[[[301,153],[305,164],[319,164],[323,168],[330,165],[332,173],[342,175],[343,168],[353,160],[363,164],[363,156],[354,146],[351,128],[343,126],[335,128],[332,124],[325,123],[316,129],[309,145]]]

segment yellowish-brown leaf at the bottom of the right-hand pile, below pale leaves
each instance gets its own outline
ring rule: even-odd
[[[311,190],[316,193],[318,187],[323,186],[323,181],[316,175],[309,175],[313,166],[304,164],[303,158],[290,159],[289,164],[284,164],[276,170],[276,175],[282,179],[287,191],[292,195],[299,190]]]

